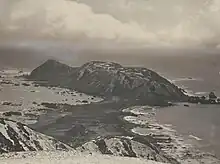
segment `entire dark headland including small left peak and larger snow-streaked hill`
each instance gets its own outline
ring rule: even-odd
[[[123,67],[113,62],[92,61],[71,68],[57,61],[47,61],[28,77],[50,84],[104,97],[143,101],[182,101],[187,96],[174,84],[146,68]]]

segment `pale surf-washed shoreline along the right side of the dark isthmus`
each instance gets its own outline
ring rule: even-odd
[[[138,112],[138,108],[140,112]],[[145,112],[143,112],[144,108],[146,109]],[[162,109],[156,109],[156,111],[157,110]],[[122,111],[128,113],[129,108]],[[198,162],[217,164],[220,162],[214,154],[202,152],[198,150],[195,145],[188,143],[184,136],[174,130],[172,125],[158,123],[155,117],[157,113],[155,112],[155,108],[149,109],[149,106],[136,106],[130,108],[130,113],[135,114],[136,117],[125,116],[124,120],[136,126],[132,128],[131,131],[140,136],[153,137],[158,147],[178,162],[184,164],[194,164]],[[191,137],[199,141],[201,140],[193,135],[191,135]]]

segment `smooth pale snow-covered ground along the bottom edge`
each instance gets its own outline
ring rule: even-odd
[[[1,164],[162,164],[145,159],[60,151],[11,154],[10,157],[1,157],[0,162]]]

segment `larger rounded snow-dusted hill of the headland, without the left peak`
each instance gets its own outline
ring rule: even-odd
[[[123,67],[113,62],[92,61],[74,73],[72,84],[85,92],[149,98],[184,99],[183,92],[154,71],[140,67]],[[74,79],[77,78],[77,80]],[[80,85],[78,85],[80,84]]]

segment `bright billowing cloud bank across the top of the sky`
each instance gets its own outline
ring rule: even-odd
[[[220,45],[220,0],[0,0],[0,35]]]

